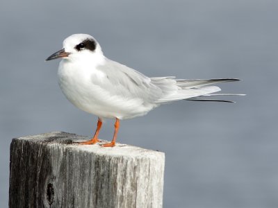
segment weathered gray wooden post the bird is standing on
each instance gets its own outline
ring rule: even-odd
[[[164,153],[51,132],[13,139],[10,208],[162,207]]]

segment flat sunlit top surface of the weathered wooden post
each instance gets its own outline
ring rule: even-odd
[[[26,137],[19,137],[15,139],[23,139],[34,142],[36,144],[46,144],[46,145],[54,145],[54,146],[63,146],[63,148],[72,148],[72,150],[77,151],[85,151],[88,153],[97,153],[99,155],[111,155],[111,156],[124,156],[124,157],[165,157],[164,153],[148,150],[145,148],[139,148],[136,146],[130,146],[127,144],[116,143],[116,146],[113,148],[104,148],[99,144],[94,145],[80,145],[76,144],[76,142],[88,140],[90,138],[70,134],[67,132],[49,132],[41,135],[33,135]],[[101,140],[103,142],[107,142]]]

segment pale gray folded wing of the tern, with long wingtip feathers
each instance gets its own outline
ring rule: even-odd
[[[106,74],[106,81],[93,80],[93,82],[109,92],[111,96],[140,98],[142,103],[168,103],[197,98],[221,90],[217,86],[205,85],[238,81],[234,78],[208,80],[181,80],[173,76],[149,78],[139,71],[108,59],[105,65],[97,69]]]

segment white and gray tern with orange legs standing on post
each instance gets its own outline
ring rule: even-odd
[[[98,135],[104,118],[116,119],[113,140],[102,146],[115,146],[120,119],[131,119],[172,101],[222,101],[205,96],[219,87],[215,83],[238,81],[235,78],[183,80],[174,76],[149,78],[142,73],[109,60],[91,35],[74,34],[63,42],[63,49],[47,58],[62,58],[58,68],[58,83],[67,99],[76,107],[99,117],[95,136],[80,144],[99,142]]]

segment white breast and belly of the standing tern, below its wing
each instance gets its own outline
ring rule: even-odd
[[[61,61],[58,69],[58,83],[67,99],[79,109],[101,118],[129,119],[147,114],[156,105],[142,105],[140,99],[126,100],[111,96],[99,85],[92,82],[103,79],[106,74],[97,69],[76,66],[72,62]],[[105,83],[104,83],[105,84]]]

